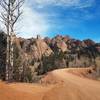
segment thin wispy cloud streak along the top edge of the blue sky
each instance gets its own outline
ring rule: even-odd
[[[44,6],[86,8],[92,6],[94,0],[31,0],[31,2],[39,8]]]

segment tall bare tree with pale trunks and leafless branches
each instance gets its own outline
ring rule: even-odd
[[[1,0],[0,6],[1,21],[6,27],[7,34],[7,52],[6,52],[6,75],[5,79],[11,81],[13,79],[13,40],[15,37],[14,27],[22,14],[21,7],[24,0]]]

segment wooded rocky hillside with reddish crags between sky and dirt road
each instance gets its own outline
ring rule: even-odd
[[[6,35],[0,34],[0,75],[5,71]],[[23,39],[14,41],[14,79],[34,81],[40,75],[64,67],[89,67],[96,65],[100,56],[100,43],[68,36]],[[3,70],[2,70],[3,69]],[[3,73],[3,74],[2,74]]]

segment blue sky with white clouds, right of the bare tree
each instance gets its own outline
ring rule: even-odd
[[[25,0],[22,9],[18,36],[60,34],[100,42],[100,0]]]

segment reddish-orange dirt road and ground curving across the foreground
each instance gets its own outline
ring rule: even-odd
[[[0,100],[100,100],[100,82],[79,77],[82,71],[87,69],[55,70],[41,84],[0,82]]]

